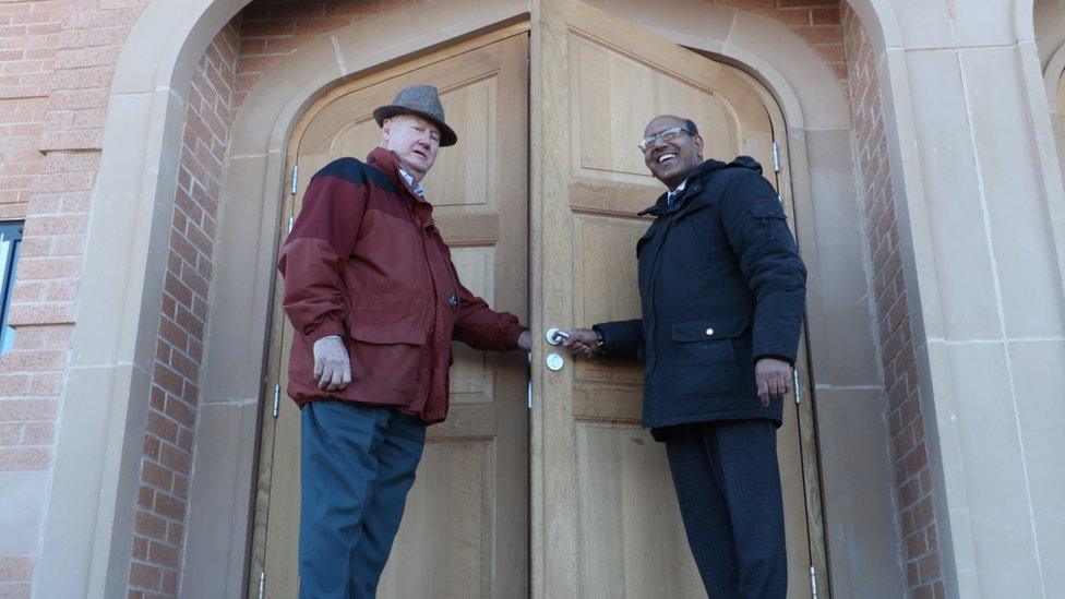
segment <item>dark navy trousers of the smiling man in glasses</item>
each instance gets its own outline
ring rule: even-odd
[[[788,554],[769,420],[660,429],[684,531],[714,599],[785,599]]]

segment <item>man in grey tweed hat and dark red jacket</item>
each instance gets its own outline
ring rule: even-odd
[[[457,142],[435,87],[373,111],[381,145],[314,175],[282,250],[301,407],[300,597],[373,597],[421,458],[447,415],[451,342],[528,350],[458,280],[421,180]]]

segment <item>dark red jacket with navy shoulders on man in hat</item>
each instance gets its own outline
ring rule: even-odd
[[[396,406],[427,423],[447,415],[451,342],[517,349],[516,316],[493,312],[458,280],[432,205],[376,148],[367,164],[340,158],[314,175],[282,249],[285,312],[296,336],[288,394],[302,406],[333,397]],[[340,335],[351,384],[324,392],[314,342]]]

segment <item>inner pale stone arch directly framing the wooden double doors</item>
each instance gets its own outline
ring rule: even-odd
[[[863,490],[863,493],[867,493],[866,508],[867,505],[878,505],[881,508],[875,512],[883,519],[870,522],[865,518],[860,522],[857,513],[849,512],[853,504],[834,505],[828,515],[830,536],[847,541],[833,547],[831,551],[839,553],[836,555],[837,562],[843,564],[841,567],[845,568],[848,567],[848,560],[843,555],[858,549],[876,548],[877,551],[889,553],[898,541],[892,524],[890,475],[885,454],[887,441],[882,417],[876,411],[876,393],[870,391],[877,381],[870,313],[867,308],[854,309],[854,306],[860,307],[857,298],[862,297],[866,289],[862,284],[865,277],[860,257],[862,240],[858,221],[861,217],[855,206],[855,185],[850,179],[853,169],[850,163],[849,108],[838,82],[816,52],[786,27],[742,11],[695,2],[684,7],[685,10],[702,11],[704,19],[713,17],[733,23],[731,37],[711,37],[691,28],[692,22],[682,16],[682,11],[663,17],[641,12],[639,4],[635,2],[598,4],[659,33],[666,32],[680,44],[713,52],[743,65],[766,84],[780,103],[789,124],[792,160],[798,165],[797,172],[801,173],[794,180],[797,205],[802,206],[800,236],[813,256],[812,273],[815,273],[818,287],[816,299],[812,299],[811,303],[812,311],[821,313],[811,315],[812,331],[815,331],[811,336],[819,344],[814,350],[814,357],[818,360],[818,368],[824,369],[824,374],[818,374],[818,382],[824,381],[819,383],[822,386],[818,393],[825,397],[822,430],[826,435],[834,434],[834,431],[835,434],[842,434],[840,429],[853,426],[855,419],[863,420],[864,426],[869,426],[871,418],[875,420],[873,435],[863,434],[861,440],[839,436],[831,443],[833,446],[864,443],[861,448],[843,448],[842,454],[863,455],[866,462],[862,465],[848,465],[843,459],[834,462],[834,467],[825,476],[831,481],[830,484],[842,489],[843,481],[850,476],[850,468],[864,468],[867,472],[870,460],[877,458],[879,462],[872,464],[873,470],[883,475],[881,488],[874,484]],[[469,3],[471,8],[475,5],[475,2]],[[524,10],[524,5],[514,4],[499,8],[492,14],[479,11],[479,20],[472,25],[464,24],[467,27],[464,32],[502,22]],[[426,12],[407,15],[394,13],[382,19],[394,20],[388,22],[396,24],[409,23],[410,19],[416,19],[410,26],[417,26],[417,19],[424,19],[426,22],[434,23],[433,31],[439,31],[442,22],[459,21],[456,14],[455,9],[450,8],[447,15]],[[381,22],[375,23],[380,24]],[[409,47],[388,48],[387,52],[360,53],[362,48],[374,47],[374,34],[371,29],[361,28],[359,24],[352,25],[291,55],[267,73],[265,80],[247,98],[235,125],[229,177],[223,191],[226,217],[219,229],[219,255],[223,257],[219,259],[216,276],[227,280],[227,285],[225,289],[219,287],[219,292],[212,301],[212,321],[215,324],[210,333],[207,351],[213,358],[205,362],[202,408],[204,418],[201,419],[203,424],[198,435],[201,451],[196,457],[200,479],[193,481],[190,500],[192,520],[189,525],[187,552],[194,547],[217,547],[223,543],[229,547],[229,555],[237,556],[243,549],[244,538],[239,534],[235,537],[229,531],[247,523],[247,511],[241,507],[241,502],[247,501],[251,493],[253,459],[250,445],[253,443],[253,435],[248,433],[254,430],[260,396],[258,369],[262,363],[265,340],[262,331],[268,313],[275,243],[273,231],[285,181],[284,144],[290,127],[308,104],[334,82],[373,64],[444,41],[446,37],[443,36],[457,36],[464,32],[446,29],[439,40],[422,39]],[[310,64],[316,68],[309,69]],[[322,69],[322,64],[328,64],[330,68]],[[830,175],[810,177],[812,171]],[[846,223],[852,225],[845,225]],[[829,247],[818,249],[818,228],[847,230],[848,233],[835,236]],[[846,250],[847,248],[850,250]],[[848,281],[857,281],[858,285],[848,287]],[[824,315],[828,312],[834,313],[837,322],[845,319],[853,322],[854,326],[828,327]],[[841,316],[841,313],[846,315]],[[829,328],[848,330],[852,336],[846,339],[833,338]],[[858,363],[853,360],[841,363],[840,352],[831,349],[839,346],[855,348],[857,351],[849,352],[848,357],[853,359],[854,356],[860,356],[865,361],[862,362],[862,358],[859,358]],[[232,372],[239,372],[240,375],[234,378],[230,375]],[[858,408],[853,405],[857,403],[853,394],[863,395],[867,402]],[[239,435],[243,440],[241,443],[249,445],[243,448],[235,447],[231,440],[228,444],[215,443],[214,441],[224,441],[231,436],[231,428],[219,426],[211,429],[207,424],[211,421],[235,423],[243,431]],[[879,430],[876,430],[876,426],[881,427]],[[865,432],[870,431],[866,429]],[[212,453],[207,447],[215,448],[217,453]],[[828,453],[831,454],[829,459],[842,457],[842,454]],[[239,462],[219,459],[234,456],[239,456]],[[212,469],[208,465],[214,465],[215,468]],[[230,486],[219,493],[207,483],[217,480],[240,482],[236,488]],[[853,495],[854,490],[848,490],[848,493]],[[863,510],[863,513],[869,512]],[[199,518],[200,514],[213,516],[208,520]],[[232,527],[217,526],[219,523],[214,518],[218,514],[226,514],[231,518],[228,522]],[[866,564],[877,563],[877,560],[854,560],[859,561]],[[894,560],[886,563],[888,570],[894,572]],[[225,567],[226,564],[217,560],[190,559],[182,577],[206,584],[210,580],[229,580],[242,575],[242,570],[236,565],[231,564],[228,572],[224,571]],[[852,576],[861,578],[865,574],[867,573],[855,572]],[[889,578],[890,575],[885,577]]]

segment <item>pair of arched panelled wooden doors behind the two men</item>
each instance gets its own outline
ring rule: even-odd
[[[438,224],[467,285],[534,321],[531,436],[524,360],[459,348],[454,408],[429,430],[380,596],[699,597],[663,448],[638,427],[638,367],[565,357],[551,371],[542,333],[639,314],[635,241],[648,220],[636,213],[661,185],[635,144],[653,116],[692,117],[708,156],[757,158],[791,215],[783,121],[741,71],[573,0],[534,3],[530,98],[527,29],[346,84],[294,133],[299,176],[280,236],[310,175],[378,143],[375,106],[410,83],[438,85],[462,140],[426,181]],[[286,382],[291,330],[279,310],[273,331],[268,392]],[[805,368],[801,356],[809,396]],[[778,433],[789,597],[811,597],[811,572],[825,573],[813,419],[809,402],[789,399]],[[264,416],[251,597],[260,580],[266,597],[297,588],[298,443],[298,412],[280,397],[276,418]]]

